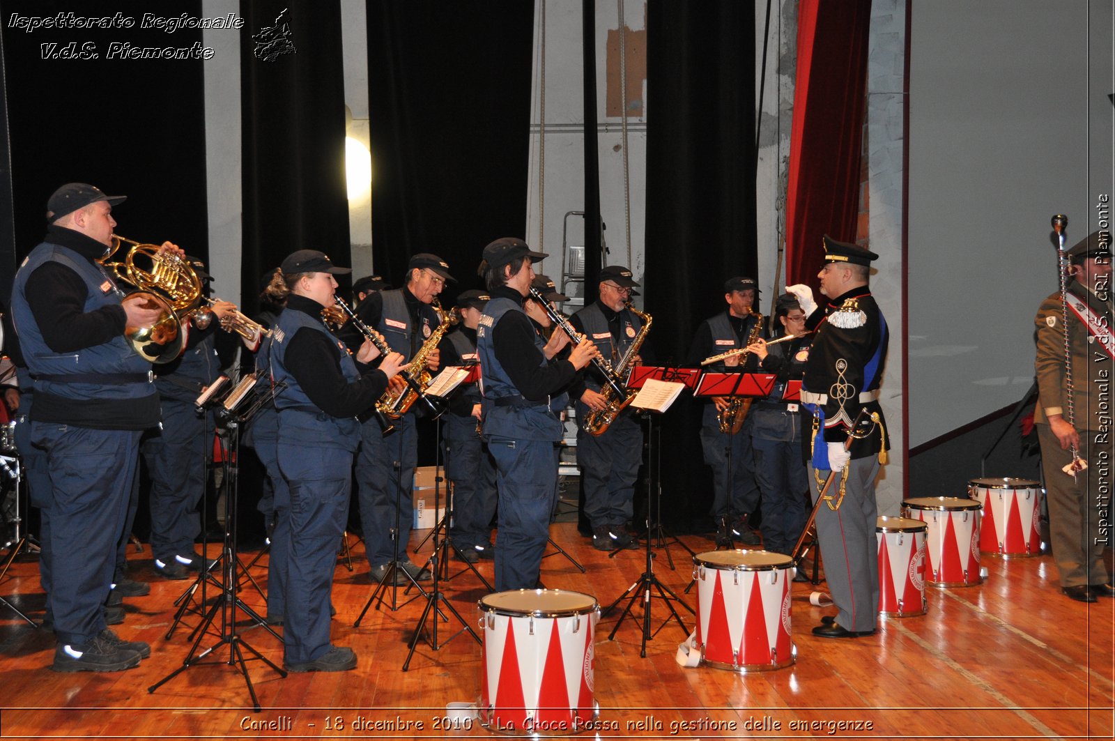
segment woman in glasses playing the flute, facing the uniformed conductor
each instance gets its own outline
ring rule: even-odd
[[[758,358],[762,373],[776,374],[774,387],[752,404],[752,448],[755,478],[762,491],[763,549],[776,554],[794,550],[808,517],[809,484],[802,461],[802,414],[798,402],[784,401],[791,381],[801,381],[809,357],[812,336],[805,334],[805,311],[797,297],[783,293],[774,310],[775,334],[767,345],[758,339],[747,349]],[[785,339],[794,337],[794,339]],[[805,578],[804,571],[798,575]]]

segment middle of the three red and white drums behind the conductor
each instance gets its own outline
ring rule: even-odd
[[[925,542],[929,571],[935,587],[971,587],[983,581],[979,572],[979,502],[957,497],[924,497],[902,502],[906,517],[929,528]]]

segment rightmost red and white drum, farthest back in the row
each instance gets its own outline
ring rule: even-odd
[[[1041,484],[1028,479],[972,479],[968,495],[983,507],[979,549],[1002,558],[1041,555]]]

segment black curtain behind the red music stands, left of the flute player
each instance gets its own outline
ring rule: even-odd
[[[757,269],[755,8],[649,0],[647,30],[647,305],[659,358],[680,363],[724,310],[724,281]],[[711,523],[700,412],[681,400],[662,425],[662,507],[679,529]]]

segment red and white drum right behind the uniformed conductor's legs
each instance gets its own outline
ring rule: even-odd
[[[881,517],[875,522],[879,546],[879,614],[884,617],[924,615],[925,533],[921,520]]]

